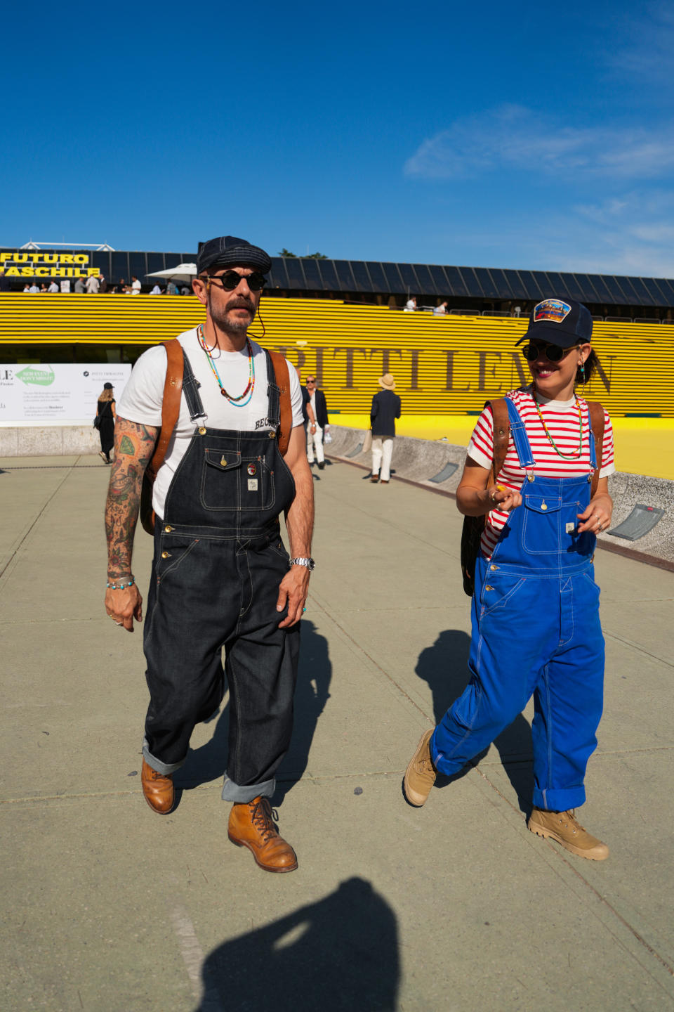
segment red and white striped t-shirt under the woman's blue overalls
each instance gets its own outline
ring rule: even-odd
[[[541,424],[539,413],[536,410],[536,403],[531,387],[522,390],[513,390],[506,394],[514,403],[519,417],[524,423],[526,435],[532,446],[534,456],[535,472],[542,478],[576,478],[579,475],[588,475],[591,470],[590,465],[590,418],[587,403],[578,398],[582,419],[582,449],[580,456],[573,459],[562,457],[556,452],[555,447],[550,442],[546,431]],[[541,414],[545,418],[548,431],[559,446],[562,453],[575,454],[578,451],[578,410],[576,399],[571,401],[550,401],[545,397],[537,397]],[[494,418],[491,407],[485,408],[477,420],[473,435],[468,444],[468,455],[482,468],[491,468],[494,458],[493,440]],[[601,453],[601,466],[599,477],[605,478],[615,471],[613,462],[613,427],[610,418],[604,411],[604,437]],[[521,489],[525,479],[525,474],[519,467],[517,451],[512,439],[512,432],[508,439],[508,449],[505,460],[496,481],[499,485],[504,485],[517,492]],[[505,525],[508,514],[503,510],[493,509],[485,518],[484,533],[480,547],[486,559],[491,558],[498,535]]]

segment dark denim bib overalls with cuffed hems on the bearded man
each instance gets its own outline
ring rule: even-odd
[[[168,774],[185,761],[196,724],[229,687],[222,797],[274,792],[292,732],[299,623],[279,628],[279,584],[290,565],[279,515],[295,494],[276,438],[280,393],[269,355],[271,431],[238,432],[206,420],[189,358],[183,393],[197,427],[155,527],[143,648],[151,701],[143,755]],[[259,377],[259,382],[263,377]]]

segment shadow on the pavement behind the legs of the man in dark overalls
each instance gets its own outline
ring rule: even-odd
[[[293,736],[290,748],[276,774],[273,804],[280,806],[293,784],[301,779],[309,759],[309,749],[318,718],[329,698],[332,677],[327,640],[316,632],[316,626],[303,618],[300,624],[300,654],[295,688]],[[226,684],[226,680],[225,680]],[[174,773],[177,796],[183,790],[198,787],[224,775],[227,765],[229,731],[229,696],[224,705],[206,724],[216,721],[212,738],[198,749],[190,751],[184,766]]]

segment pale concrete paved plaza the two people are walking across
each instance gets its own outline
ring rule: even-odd
[[[581,821],[611,853],[584,861],[525,827],[528,710],[423,809],[404,802],[467,678],[461,517],[347,463],[317,473],[274,798],[299,868],[272,875],[226,839],[226,696],[176,811],[142,798],[141,630],[102,605],[107,470],[0,472],[2,1012],[674,1009],[674,574],[597,553],[605,715]],[[150,560],[139,530],[143,595]]]

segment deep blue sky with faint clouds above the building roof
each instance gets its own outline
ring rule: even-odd
[[[674,2],[2,20],[0,245],[674,276]]]

